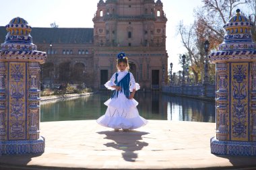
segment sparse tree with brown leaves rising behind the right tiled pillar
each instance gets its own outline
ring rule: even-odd
[[[219,44],[223,42],[226,34],[223,29],[224,24],[234,15],[238,7],[245,7],[246,13],[252,13],[251,20],[256,18],[256,0],[203,0],[203,7],[195,9],[195,21],[191,26],[184,26],[180,22],[178,26],[179,34],[183,46],[187,49],[189,60],[191,61],[191,71],[195,75],[195,82],[203,77],[203,62],[205,51],[203,42],[209,40],[210,50],[218,50]],[[247,11],[248,10],[248,11]],[[253,38],[256,39],[255,28],[252,30]],[[210,77],[215,76],[215,67],[210,66]]]

